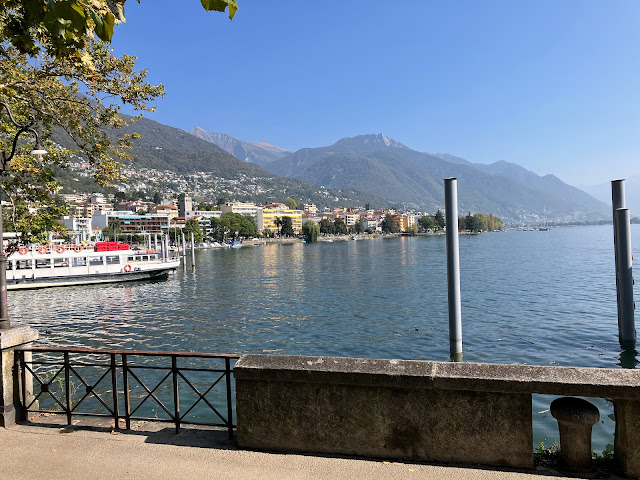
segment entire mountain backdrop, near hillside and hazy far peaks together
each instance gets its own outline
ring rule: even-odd
[[[443,179],[456,177],[461,215],[493,213],[507,222],[528,224],[611,216],[606,203],[554,175],[539,176],[504,161],[486,165],[447,153],[418,152],[382,134],[348,137],[333,145],[290,152],[198,127],[187,133],[144,118],[128,129],[141,135],[132,142],[129,168],[176,172],[184,178],[207,172],[208,178],[227,180],[225,187],[211,180],[207,195],[230,200],[268,203],[291,197],[319,207],[369,203],[374,208],[435,212],[444,208]],[[54,140],[73,147],[60,132]],[[74,182],[67,180],[65,185],[72,190]],[[79,186],[77,179],[73,180]],[[229,190],[229,184],[251,188]]]

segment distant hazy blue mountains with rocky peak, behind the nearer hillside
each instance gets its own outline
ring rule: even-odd
[[[250,145],[228,135],[194,128],[199,138],[232,151]],[[233,141],[232,141],[233,140]],[[269,146],[271,149],[277,148]],[[333,145],[303,148],[256,162],[276,175],[297,178],[325,188],[371,192],[396,205],[435,211],[444,205],[443,179],[458,179],[460,213],[493,213],[511,222],[601,220],[610,207],[554,175],[539,176],[515,163],[472,163],[450,154],[418,152],[383,134],[343,138]],[[243,153],[244,155],[244,153]],[[250,155],[244,158],[251,161]]]

